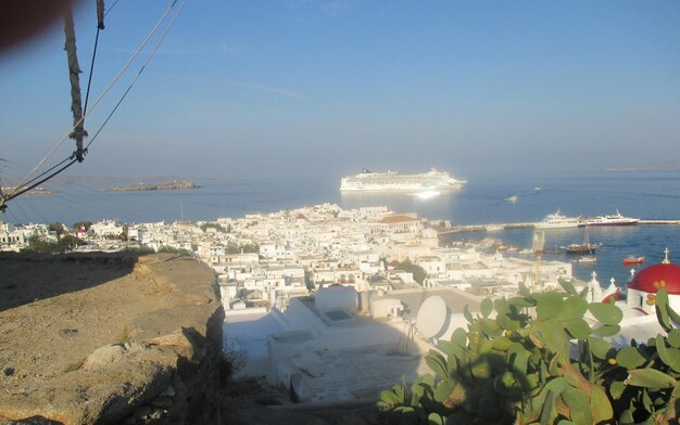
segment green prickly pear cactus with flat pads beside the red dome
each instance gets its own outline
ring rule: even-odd
[[[680,403],[680,315],[656,296],[664,334],[616,349],[621,310],[564,292],[484,299],[467,309],[467,331],[440,340],[425,360],[432,374],[382,391],[387,423],[668,423]],[[493,314],[495,312],[495,314]],[[594,318],[591,325],[585,314]]]

